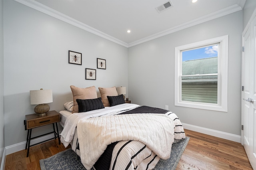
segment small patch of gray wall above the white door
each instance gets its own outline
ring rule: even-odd
[[[246,27],[255,8],[256,8],[256,0],[246,0],[246,3],[244,4],[244,8],[243,8],[243,28]]]

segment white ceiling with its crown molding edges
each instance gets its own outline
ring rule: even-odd
[[[16,1],[129,47],[242,10],[246,0]],[[172,7],[158,13],[168,1]]]

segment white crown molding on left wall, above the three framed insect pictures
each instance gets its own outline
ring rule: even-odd
[[[102,38],[110,40],[114,43],[117,43],[119,45],[123,45],[124,47],[128,47],[128,43],[125,43],[125,42],[123,42],[123,41],[121,41],[117,38],[114,38],[114,37],[112,37],[112,36],[110,36],[110,35],[108,35],[104,32],[96,30],[95,28],[92,28],[92,27],[90,27],[90,26],[88,26],[88,25],[86,25],[86,24],[84,24],[84,23],[82,23],[78,20],[75,20],[74,18],[66,16],[66,15],[64,15],[64,14],[62,14],[62,13],[60,13],[60,12],[58,12],[58,11],[52,9],[52,8],[49,8],[48,6],[45,6],[45,5],[43,5],[39,2],[36,2],[35,0],[15,0],[15,1],[19,2],[23,5],[26,5],[30,8],[33,8],[35,10],[38,10],[40,12],[43,12],[44,14],[47,14],[49,16],[52,16],[52,17],[57,18],[59,20],[62,20],[64,22],[67,22],[68,24],[71,24],[73,26],[76,26],[78,28],[86,30],[86,31],[88,31],[92,34],[95,34],[97,36],[100,36]]]

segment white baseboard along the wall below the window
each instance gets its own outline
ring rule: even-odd
[[[238,142],[238,143],[241,142],[241,136],[236,135],[236,134],[221,132],[221,131],[212,130],[212,129],[209,129],[209,128],[198,127],[198,126],[189,125],[189,124],[186,124],[186,123],[182,123],[182,126],[185,129],[192,130],[192,131],[195,131],[195,132],[208,134],[208,135],[211,135],[211,136],[231,140],[231,141]]]

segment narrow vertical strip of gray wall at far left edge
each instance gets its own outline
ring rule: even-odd
[[[4,32],[3,0],[0,0],[0,165],[4,151]],[[1,166],[0,166],[1,167]]]

